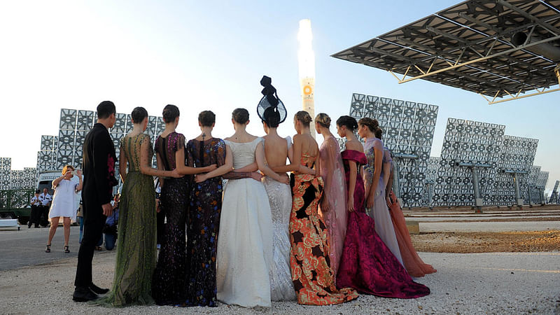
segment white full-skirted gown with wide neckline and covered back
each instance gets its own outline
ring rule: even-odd
[[[257,138],[245,144],[225,141],[233,166],[255,162]],[[230,179],[225,185],[218,235],[218,300],[242,307],[271,307],[272,217],[265,186],[254,179]]]

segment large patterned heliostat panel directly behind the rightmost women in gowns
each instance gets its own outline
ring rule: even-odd
[[[438,107],[365,94],[352,94],[350,116],[375,118],[395,161],[395,195],[405,207],[423,206],[426,169]]]

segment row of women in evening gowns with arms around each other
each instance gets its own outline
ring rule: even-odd
[[[270,307],[271,300],[325,305],[356,299],[358,293],[398,298],[430,293],[411,277],[435,269],[414,251],[391,194],[392,161],[377,120],[340,117],[342,153],[324,113],[314,122],[324,137],[321,148],[305,111],[294,116],[293,139],[282,138],[276,128],[286,108],[270,78],[260,83],[258,116],[265,137],[248,134],[248,111],[235,109],[235,133],[214,138],[216,116],[203,111],[201,134],[186,143],[175,131],[179,109],[167,105],[165,130],[155,142],[158,169],[149,166],[148,113],[141,107],[132,111],[134,129],[120,141],[124,185],[116,272],[113,288],[96,304],[215,307],[219,300]],[[167,216],[159,255],[152,176],[160,176]]]

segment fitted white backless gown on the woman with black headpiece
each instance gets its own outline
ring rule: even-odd
[[[286,138],[288,149],[290,137]],[[292,274],[290,272],[290,213],[292,191],[290,186],[269,177],[262,180],[267,190],[272,211],[272,257],[270,272],[270,297],[273,301],[295,300]]]

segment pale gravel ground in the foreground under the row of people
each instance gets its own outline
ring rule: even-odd
[[[115,252],[96,253],[94,279],[109,287]],[[107,309],[71,300],[76,258],[0,272],[2,314],[560,314],[560,252],[421,253],[437,268],[418,281],[432,293],[416,300],[361,295],[328,307],[273,302],[272,308],[126,307]]]

